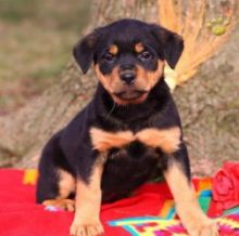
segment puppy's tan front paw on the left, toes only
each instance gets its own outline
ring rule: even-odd
[[[102,236],[104,234],[103,226],[100,222],[81,223],[73,222],[70,228],[71,236]]]

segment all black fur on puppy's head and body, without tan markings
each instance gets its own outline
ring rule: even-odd
[[[151,53],[151,58],[140,61],[133,51],[133,44],[141,41]],[[121,55],[105,60],[105,49],[117,43]],[[175,67],[183,51],[183,40],[160,26],[134,19],[123,19],[109,26],[98,28],[84,38],[74,49],[74,56],[86,73],[93,61],[99,64],[102,74],[111,73],[115,65],[140,64],[147,70],[155,70],[155,62],[166,60]],[[163,78],[150,91],[141,104],[117,105],[112,96],[98,84],[92,101],[46,145],[39,163],[37,201],[58,196],[58,169],[72,173],[75,178],[89,181],[91,168],[98,157],[92,149],[89,129],[97,127],[105,131],[130,130],[144,128],[166,129],[180,128],[180,119],[171,92]],[[149,181],[159,169],[167,168],[168,158],[178,161],[190,179],[187,149],[181,136],[180,149],[168,157],[159,148],[134,142],[124,148],[112,148],[104,166],[102,176],[103,201],[112,201],[127,196],[140,184]]]

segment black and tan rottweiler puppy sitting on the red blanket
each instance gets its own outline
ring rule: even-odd
[[[181,55],[181,37],[155,24],[122,19],[95,29],[74,48],[92,101],[43,148],[37,202],[75,209],[72,236],[103,235],[100,205],[128,196],[161,171],[191,236],[215,236],[190,183],[187,148],[163,70]]]

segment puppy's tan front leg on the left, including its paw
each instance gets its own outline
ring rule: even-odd
[[[71,236],[103,235],[103,226],[99,219],[102,171],[102,165],[95,165],[88,183],[77,180],[75,217],[70,230]]]

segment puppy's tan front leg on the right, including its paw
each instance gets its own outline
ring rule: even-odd
[[[172,161],[164,173],[174,196],[176,210],[191,236],[217,236],[216,225],[202,212],[194,189],[179,165]]]

